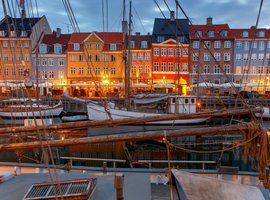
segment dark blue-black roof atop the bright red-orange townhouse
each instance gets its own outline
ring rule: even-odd
[[[178,36],[186,36],[189,41],[189,23],[187,19],[160,19],[156,18],[153,28],[153,42],[157,42],[158,35],[165,36],[165,40]]]

